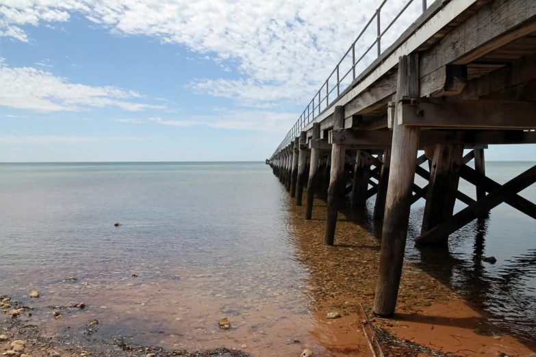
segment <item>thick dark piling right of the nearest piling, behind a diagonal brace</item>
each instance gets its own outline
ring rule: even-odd
[[[463,145],[435,145],[421,235],[452,217],[462,158]]]

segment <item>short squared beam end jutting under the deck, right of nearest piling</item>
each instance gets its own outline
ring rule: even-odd
[[[420,91],[427,96],[454,96],[467,84],[467,67],[447,64],[420,79]]]

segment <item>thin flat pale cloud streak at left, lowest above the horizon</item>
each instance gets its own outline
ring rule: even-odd
[[[131,142],[149,140],[147,137],[127,136],[16,136],[0,135],[0,144],[80,144],[88,142]]]

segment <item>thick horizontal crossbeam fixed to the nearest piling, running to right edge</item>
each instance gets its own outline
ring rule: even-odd
[[[536,129],[536,103],[403,98],[399,123],[429,128]]]

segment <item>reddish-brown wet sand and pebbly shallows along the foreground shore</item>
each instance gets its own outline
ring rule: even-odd
[[[290,243],[296,247],[296,261],[307,272],[290,285],[279,285],[279,276],[270,269],[259,272],[255,277],[259,283],[251,289],[251,282],[231,278],[227,271],[202,274],[203,269],[186,266],[155,271],[162,267],[147,264],[94,277],[85,273],[90,267],[81,267],[78,272],[54,272],[58,279],[42,286],[29,286],[21,276],[21,284],[9,291],[3,288],[0,295],[33,310],[21,313],[13,325],[7,309],[0,328],[8,329],[14,339],[28,334],[23,326],[35,326],[36,343],[52,341],[62,356],[80,356],[82,350],[94,356],[145,356],[151,351],[168,356],[173,352],[165,351],[222,347],[230,351],[222,351],[223,356],[239,351],[251,356],[299,356],[305,348],[314,356],[372,356],[357,315],[362,304],[385,356],[536,355],[533,341],[518,341],[496,328],[482,311],[454,293],[437,271],[429,274],[411,263],[403,269],[395,317],[372,317],[381,243],[370,227],[356,224],[355,216],[344,211],[335,246],[323,246],[324,207],[322,200],[316,200],[313,220],[305,221],[305,208],[288,200]],[[59,274],[77,280],[64,280]],[[34,289],[40,291],[38,299],[27,296]],[[86,304],[84,310],[61,308],[79,302]],[[55,319],[53,310],[60,310],[62,317]],[[342,317],[327,319],[329,312]],[[229,318],[231,329],[218,328],[220,317]],[[99,324],[89,334],[92,320]],[[140,348],[125,352],[117,341]],[[69,351],[71,345],[77,346],[75,352]],[[50,347],[41,351],[44,347],[36,346],[29,348],[31,356],[49,354]]]

